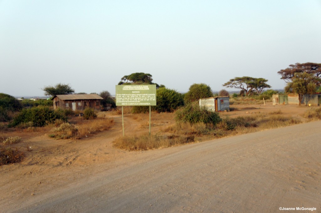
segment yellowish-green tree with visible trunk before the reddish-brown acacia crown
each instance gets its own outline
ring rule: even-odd
[[[320,81],[313,73],[296,72],[293,74],[291,82],[288,82],[284,89],[286,93],[299,94],[299,105],[301,105],[303,96],[315,93],[317,88],[315,82],[320,84]]]

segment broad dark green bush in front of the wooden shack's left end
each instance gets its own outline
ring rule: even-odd
[[[66,120],[66,117],[59,113],[59,111],[53,111],[46,106],[39,106],[30,109],[23,109],[13,119],[10,126],[15,127],[22,123],[32,122],[34,127],[43,127],[47,123],[54,122],[56,119]]]

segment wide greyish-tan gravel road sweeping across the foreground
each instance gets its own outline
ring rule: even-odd
[[[2,211],[321,212],[320,125],[127,152],[130,160],[101,164],[64,188],[2,200]]]

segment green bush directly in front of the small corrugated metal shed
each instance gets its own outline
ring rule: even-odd
[[[207,111],[205,108],[200,108],[198,104],[187,106],[176,111],[176,121],[188,122],[191,124],[204,123],[213,124],[221,122],[221,118],[217,112]]]

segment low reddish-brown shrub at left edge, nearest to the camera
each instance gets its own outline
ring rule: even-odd
[[[18,149],[13,150],[10,147],[0,147],[0,166],[9,163],[21,162],[23,158],[23,152]]]

